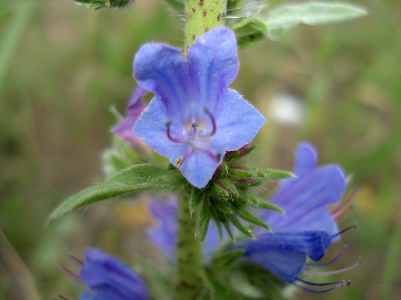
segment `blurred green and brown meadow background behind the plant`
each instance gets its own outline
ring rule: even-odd
[[[297,299],[401,298],[401,2],[353,2],[370,15],[301,26],[242,51],[232,84],[268,118],[254,163],[291,170],[297,143],[309,140],[321,164],[339,163],[350,175],[347,195],[359,188],[340,221],[358,228],[328,257],[348,244],[331,267],[359,256],[366,264],[340,275],[351,286]],[[67,0],[0,0],[0,299],[78,299],[59,266],[77,271],[68,255],[82,257],[87,246],[128,263],[162,263],[143,234],[151,223],[144,201],[102,202],[49,227],[45,219],[104,177],[109,107],[124,111],[142,43],[182,46],[183,22],[173,14],[162,0],[97,12]],[[292,107],[291,120],[283,118]]]

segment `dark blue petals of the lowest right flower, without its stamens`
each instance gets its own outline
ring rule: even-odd
[[[239,243],[235,248],[245,249],[244,258],[290,283],[304,267],[306,255],[320,260],[331,242],[325,231],[265,233],[256,238]]]

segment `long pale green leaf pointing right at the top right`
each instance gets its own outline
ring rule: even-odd
[[[365,15],[367,15],[365,9],[345,3],[286,4],[269,12],[266,25],[269,28],[269,38],[275,39],[298,24],[323,25],[348,21]]]

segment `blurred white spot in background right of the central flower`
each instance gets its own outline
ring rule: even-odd
[[[269,106],[269,114],[277,123],[299,126],[305,118],[305,104],[292,94],[273,95]]]

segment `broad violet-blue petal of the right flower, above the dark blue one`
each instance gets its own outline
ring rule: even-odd
[[[264,220],[276,230],[325,230],[337,233],[337,225],[326,206],[341,200],[346,188],[341,167],[326,165],[277,190],[270,202],[280,206],[285,215],[263,211]]]

